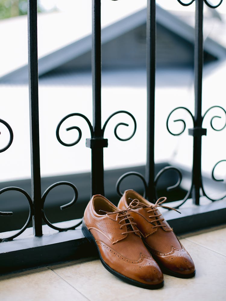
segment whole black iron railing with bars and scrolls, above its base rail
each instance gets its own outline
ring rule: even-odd
[[[176,0],[175,0],[176,1]],[[185,4],[180,0],[177,0],[181,5],[188,6],[192,4],[195,0]],[[207,196],[202,185],[202,171],[201,171],[201,148],[202,148],[202,135],[207,134],[207,130],[202,128],[202,122],[206,114],[212,108],[219,108],[223,113],[226,111],[224,108],[215,105],[210,107],[204,115],[202,115],[202,66],[203,66],[203,34],[202,34],[202,23],[203,23],[203,2],[208,5],[210,8],[218,7],[218,5],[211,5],[207,0],[196,0],[196,24],[195,24],[195,50],[194,50],[194,82],[195,82],[195,113],[194,116],[186,107],[177,107],[173,109],[166,120],[166,126],[168,132],[171,135],[180,135],[186,129],[186,123],[183,119],[176,119],[174,122],[180,122],[183,124],[183,129],[179,133],[173,133],[169,129],[168,121],[174,111],[178,109],[186,110],[192,120],[193,128],[188,130],[188,134],[193,136],[193,167],[192,167],[192,184],[191,188],[188,190],[186,196],[181,203],[176,206],[180,207],[186,200],[190,197],[193,199],[193,203],[199,205],[200,199],[200,190],[202,194],[209,198],[212,201],[211,197]],[[56,137],[58,141],[67,147],[77,144],[81,139],[81,129],[77,126],[71,126],[66,129],[66,131],[77,130],[78,138],[76,141],[71,143],[65,143],[61,140],[59,136],[59,129],[63,126],[64,121],[71,116],[78,116],[86,120],[89,129],[90,129],[90,138],[86,139],[86,147],[91,148],[92,156],[92,169],[91,169],[91,195],[93,194],[104,194],[104,166],[103,166],[103,148],[108,147],[108,139],[104,138],[105,128],[108,124],[108,121],[115,116],[116,114],[125,113],[129,115],[134,122],[133,133],[128,138],[120,138],[118,135],[119,126],[128,126],[127,123],[118,123],[115,126],[115,136],[121,141],[129,140],[133,137],[136,132],[136,120],[131,113],[128,111],[117,111],[112,113],[108,119],[105,121],[104,125],[101,124],[101,1],[92,0],[92,74],[93,74],[93,124],[89,119],[80,113],[71,113],[65,116],[58,124],[56,129]],[[155,162],[154,162],[154,131],[155,131],[155,43],[156,43],[156,18],[155,18],[155,1],[147,1],[147,160],[146,160],[146,176],[138,172],[127,172],[122,175],[117,182],[116,190],[119,195],[121,195],[120,184],[124,178],[135,175],[141,178],[144,184],[144,195],[149,200],[155,200],[157,196],[156,186],[159,179],[162,177],[163,173],[168,170],[173,170],[178,173],[178,182],[171,187],[168,187],[168,190],[173,190],[179,187],[182,180],[182,173],[176,166],[167,166],[163,168],[155,176]],[[7,187],[0,191],[0,194],[3,194],[6,191],[15,190],[18,191],[27,198],[30,207],[30,213],[25,223],[24,227],[8,237],[4,237],[2,241],[12,240],[13,238],[20,235],[30,224],[33,219],[33,231],[36,237],[42,236],[42,220],[49,225],[49,227],[58,230],[58,231],[67,231],[69,229],[75,229],[80,222],[76,223],[74,226],[60,228],[52,224],[46,217],[44,211],[44,203],[48,193],[60,185],[67,185],[71,187],[74,191],[73,200],[61,206],[61,209],[67,208],[73,205],[78,197],[78,191],[74,184],[71,182],[57,182],[49,186],[46,189],[43,195],[41,195],[41,177],[40,177],[40,154],[39,154],[39,104],[38,104],[38,58],[37,58],[37,3],[36,1],[28,1],[28,52],[29,52],[29,99],[30,99],[30,141],[31,141],[31,196],[23,189],[17,187]],[[225,128],[226,123],[221,127],[221,129],[216,129],[212,121],[214,118],[221,118],[221,116],[214,116],[211,119],[212,129],[219,131]],[[3,123],[8,131],[10,132],[10,141],[7,146],[4,147],[0,152],[6,151],[13,141],[13,131],[8,123],[0,119],[0,122]],[[215,167],[225,160],[221,160],[213,168],[212,178],[215,181],[217,180],[214,177]],[[75,183],[76,184],[76,183]],[[130,187],[133,188],[133,187]],[[224,196],[225,197],[225,196]],[[222,197],[221,199],[223,199]],[[88,200],[87,200],[88,201]],[[0,216],[11,216],[12,212],[0,212]],[[1,217],[0,217],[1,218]]]

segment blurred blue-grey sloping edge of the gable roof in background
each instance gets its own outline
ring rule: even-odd
[[[157,28],[165,28],[168,33],[177,36],[181,41],[185,42],[186,45],[192,45],[194,40],[194,28],[184,23],[179,18],[175,17],[168,11],[156,6],[156,20]],[[108,22],[109,23],[109,22]],[[118,20],[106,27],[102,26],[102,45],[103,49],[105,46],[117,38],[122,37],[126,33],[130,33],[132,30],[139,29],[146,23],[146,8],[141,9],[138,12],[130,14],[127,17]],[[107,24],[107,23],[105,23]],[[83,32],[84,34],[84,32]],[[89,33],[87,36],[80,36],[78,40],[71,44],[64,46],[56,51],[44,55],[39,58],[39,76],[48,73],[51,70],[59,68],[60,66],[67,65],[68,63],[75,62],[78,58],[81,60],[84,56],[90,57],[92,45],[92,36]],[[204,45],[205,52],[213,58],[224,58],[226,56],[226,49],[207,38]],[[103,55],[104,59],[104,55]],[[78,60],[77,60],[78,61]],[[88,64],[90,62],[88,61]],[[103,61],[104,65],[104,61]],[[28,67],[27,65],[17,68],[16,70],[7,73],[5,76],[0,78],[0,82],[13,81],[19,78],[20,80],[27,81],[28,78]]]

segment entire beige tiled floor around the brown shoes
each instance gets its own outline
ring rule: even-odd
[[[226,300],[226,228],[181,239],[196,265],[196,276],[165,275],[159,290],[133,287],[111,275],[99,260],[45,267],[0,280],[0,299],[9,300]]]

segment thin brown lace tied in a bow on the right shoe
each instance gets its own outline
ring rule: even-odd
[[[159,218],[162,214],[156,214],[156,211],[158,210],[157,207],[162,207],[162,208],[166,208],[166,209],[170,209],[170,210],[174,210],[177,211],[178,213],[181,213],[180,211],[176,210],[175,208],[172,207],[168,207],[165,205],[161,205],[162,203],[164,203],[167,198],[166,197],[160,197],[154,205],[146,205],[145,203],[140,202],[138,199],[131,199],[129,198],[129,200],[131,200],[131,203],[129,204],[128,208],[126,209],[127,211],[129,210],[134,210],[134,209],[138,209],[138,208],[150,208],[149,210],[147,210],[147,213],[152,212],[153,215],[149,216],[149,219],[154,218],[152,221],[146,219],[145,216],[143,216],[142,214],[138,213],[140,216],[142,216],[147,222],[149,222],[150,224],[152,224],[152,229],[157,228],[157,227],[166,227],[167,225],[162,225],[160,224],[160,222],[164,221],[164,218]],[[157,219],[156,219],[157,218]],[[159,223],[158,223],[159,222]]]

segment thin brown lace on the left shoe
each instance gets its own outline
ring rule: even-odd
[[[99,210],[99,211],[105,212],[106,216],[113,221],[118,221],[118,218],[122,217],[123,219],[119,220],[118,223],[121,224],[123,221],[125,221],[125,224],[122,224],[119,227],[120,230],[125,226],[126,226],[126,229],[128,229],[127,226],[131,226],[130,228],[133,229],[132,225],[133,226],[137,225],[137,223],[133,222],[134,218],[132,216],[130,216],[130,213],[127,213],[127,211],[132,211],[132,210],[116,210],[114,212],[107,212],[104,210]],[[111,217],[112,214],[116,214],[116,219]],[[125,231],[125,232],[122,232],[121,235],[133,233],[133,232],[135,233],[135,232],[140,232],[140,231],[139,230]]]

